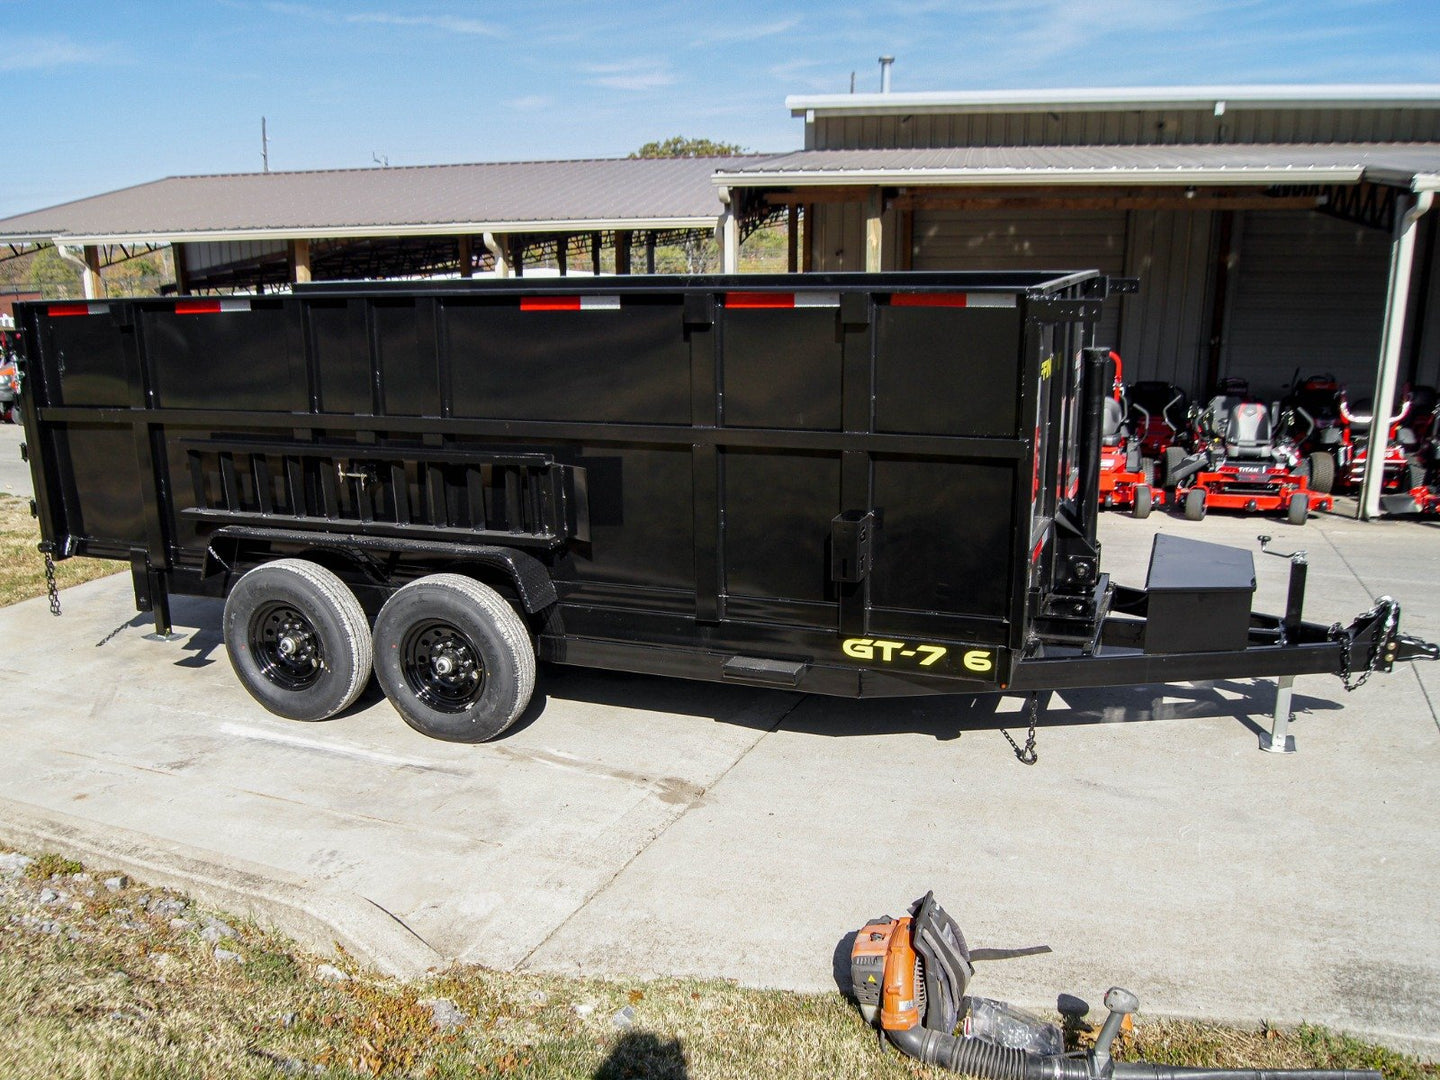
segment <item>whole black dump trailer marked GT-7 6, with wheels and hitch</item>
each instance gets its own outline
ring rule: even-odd
[[[320,284],[17,305],[42,550],[225,598],[268,708],[372,667],[480,740],[536,660],[847,697],[1434,655],[1250,611],[1247,552],[1100,569],[1094,272]]]

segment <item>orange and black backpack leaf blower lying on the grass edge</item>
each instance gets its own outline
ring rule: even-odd
[[[1112,986],[1109,1015],[1094,1047],[1066,1053],[1058,1030],[1004,1002],[965,996],[975,969],[965,936],[935,894],[901,919],[873,919],[850,952],[851,991],[884,1044],[917,1061],[982,1080],[1380,1080],[1378,1071],[1342,1068],[1184,1068],[1116,1061],[1110,1050],[1139,999]],[[981,1022],[1002,1014],[999,1024]],[[955,1034],[956,1028],[963,1034]]]

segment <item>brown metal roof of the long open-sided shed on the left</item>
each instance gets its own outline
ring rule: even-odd
[[[753,157],[174,176],[0,220],[0,242],[240,240],[710,228]]]

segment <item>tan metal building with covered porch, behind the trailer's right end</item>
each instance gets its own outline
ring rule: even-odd
[[[802,206],[805,269],[1136,276],[1126,374],[1277,396],[1440,382],[1440,86],[845,94],[786,101],[805,148],[723,167],[740,217]],[[732,245],[733,246],[733,245]],[[1408,311],[1408,317],[1407,317]],[[1380,360],[1394,369],[1388,386]],[[1374,395],[1372,395],[1374,387]]]

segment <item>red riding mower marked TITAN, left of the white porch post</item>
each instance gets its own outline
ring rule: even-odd
[[[1284,511],[1303,526],[1312,508],[1329,510],[1328,492],[1312,491],[1295,444],[1272,429],[1270,409],[1244,379],[1224,379],[1197,419],[1194,452],[1168,475],[1185,517],[1200,521],[1211,507],[1259,514]]]

